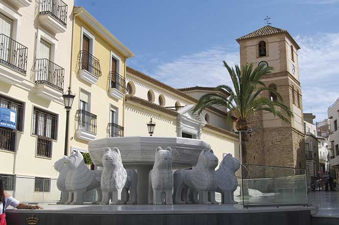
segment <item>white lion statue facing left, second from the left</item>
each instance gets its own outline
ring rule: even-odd
[[[84,204],[84,193],[96,189],[98,192],[97,201],[101,201],[100,177],[101,172],[90,170],[85,162],[83,155],[76,151],[65,159],[68,167],[66,176],[66,190],[68,191],[68,200],[65,204]],[[96,204],[96,202],[93,202]]]

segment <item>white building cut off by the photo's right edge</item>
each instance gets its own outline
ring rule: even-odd
[[[339,179],[339,98],[327,109],[327,115],[330,123],[330,135],[329,142],[331,148],[331,160],[330,165],[335,170],[336,179]]]

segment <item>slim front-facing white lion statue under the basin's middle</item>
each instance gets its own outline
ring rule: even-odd
[[[155,149],[153,169],[148,174],[148,204],[172,205],[172,149]]]

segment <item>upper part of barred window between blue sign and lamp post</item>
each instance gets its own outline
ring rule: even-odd
[[[58,116],[34,107],[32,133],[50,139],[57,139]]]

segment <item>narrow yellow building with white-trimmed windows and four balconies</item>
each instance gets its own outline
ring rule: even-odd
[[[124,136],[126,59],[134,54],[84,8],[74,7],[69,152]]]

